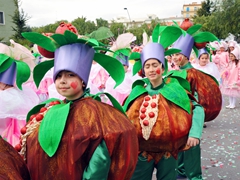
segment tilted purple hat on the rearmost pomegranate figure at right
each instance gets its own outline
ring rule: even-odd
[[[185,36],[181,35],[178,40],[173,44],[173,48],[180,49],[180,53],[186,56],[188,59],[190,58],[193,46],[194,39],[189,34],[186,34]]]

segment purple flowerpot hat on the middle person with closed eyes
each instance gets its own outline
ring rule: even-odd
[[[148,43],[141,52],[141,62],[142,68],[144,64],[149,59],[156,59],[163,64],[165,67],[165,55],[164,55],[164,48],[159,43]],[[144,73],[144,71],[143,71]]]

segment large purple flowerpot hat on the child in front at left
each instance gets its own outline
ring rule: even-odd
[[[66,70],[77,74],[87,86],[95,51],[86,44],[68,44],[54,52],[53,80],[60,71]]]

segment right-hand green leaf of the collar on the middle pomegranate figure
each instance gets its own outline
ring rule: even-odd
[[[166,80],[166,79],[165,79]],[[159,90],[166,99],[180,106],[189,114],[191,113],[190,99],[184,88],[177,82],[177,80],[171,78],[170,83],[166,83],[164,88]]]

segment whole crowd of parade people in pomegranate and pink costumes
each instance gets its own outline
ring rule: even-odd
[[[22,33],[31,48],[0,43],[0,177],[203,179],[202,130],[237,106],[240,46],[201,27],[158,24],[137,45],[62,22]]]

